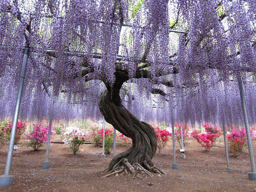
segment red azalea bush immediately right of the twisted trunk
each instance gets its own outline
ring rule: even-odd
[[[169,136],[172,136],[172,133],[167,130],[161,130],[159,126],[151,125],[156,132],[156,142],[158,147],[158,153],[160,154],[161,150],[167,145]]]

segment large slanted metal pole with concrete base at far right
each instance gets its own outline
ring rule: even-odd
[[[245,105],[245,99],[244,99],[244,88],[243,88],[241,76],[238,75],[237,78],[238,78],[239,92],[240,92],[243,114],[244,114],[244,124],[245,124],[245,129],[246,129],[248,150],[249,150],[249,155],[250,155],[250,164],[251,164],[251,169],[252,169],[252,172],[249,172],[248,176],[249,176],[250,180],[256,180],[255,159],[254,159],[254,154],[253,154],[253,150],[252,150],[252,139],[251,139],[251,135],[250,135],[250,127],[249,127],[249,123],[248,123],[248,117],[247,117],[247,111],[246,111],[246,105]]]

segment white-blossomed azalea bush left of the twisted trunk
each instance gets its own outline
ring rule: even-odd
[[[86,142],[86,135],[82,130],[79,130],[77,127],[68,127],[64,132],[64,144],[68,144],[70,150],[74,154],[78,152],[78,150],[82,147],[82,145]]]

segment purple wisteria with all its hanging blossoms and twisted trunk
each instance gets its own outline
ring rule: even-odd
[[[152,166],[155,132],[140,120],[170,123],[174,110],[192,125],[242,124],[237,77],[255,124],[255,45],[255,0],[1,0],[0,116],[29,48],[22,118],[53,100],[54,118],[103,114],[133,140],[109,170],[124,157]]]

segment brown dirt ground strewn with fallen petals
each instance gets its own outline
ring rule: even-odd
[[[55,138],[56,140],[57,138]],[[223,140],[217,146],[224,146]],[[18,145],[14,152],[11,175],[14,184],[0,188],[1,192],[236,192],[256,191],[256,181],[248,180],[250,159],[246,149],[239,157],[230,158],[231,171],[226,170],[225,151],[222,147],[213,147],[210,152],[190,138],[186,147],[186,159],[176,153],[178,170],[172,169],[172,146],[166,146],[161,154],[156,154],[153,162],[162,168],[166,175],[143,180],[130,175],[102,178],[112,154],[101,158],[102,148],[85,144],[74,156],[67,145],[50,145],[50,169],[42,170],[46,148],[32,151]],[[117,153],[128,146],[117,146]],[[254,144],[255,148],[255,144]],[[0,170],[4,173],[8,145],[0,150]],[[256,151],[254,151],[256,152]]]

